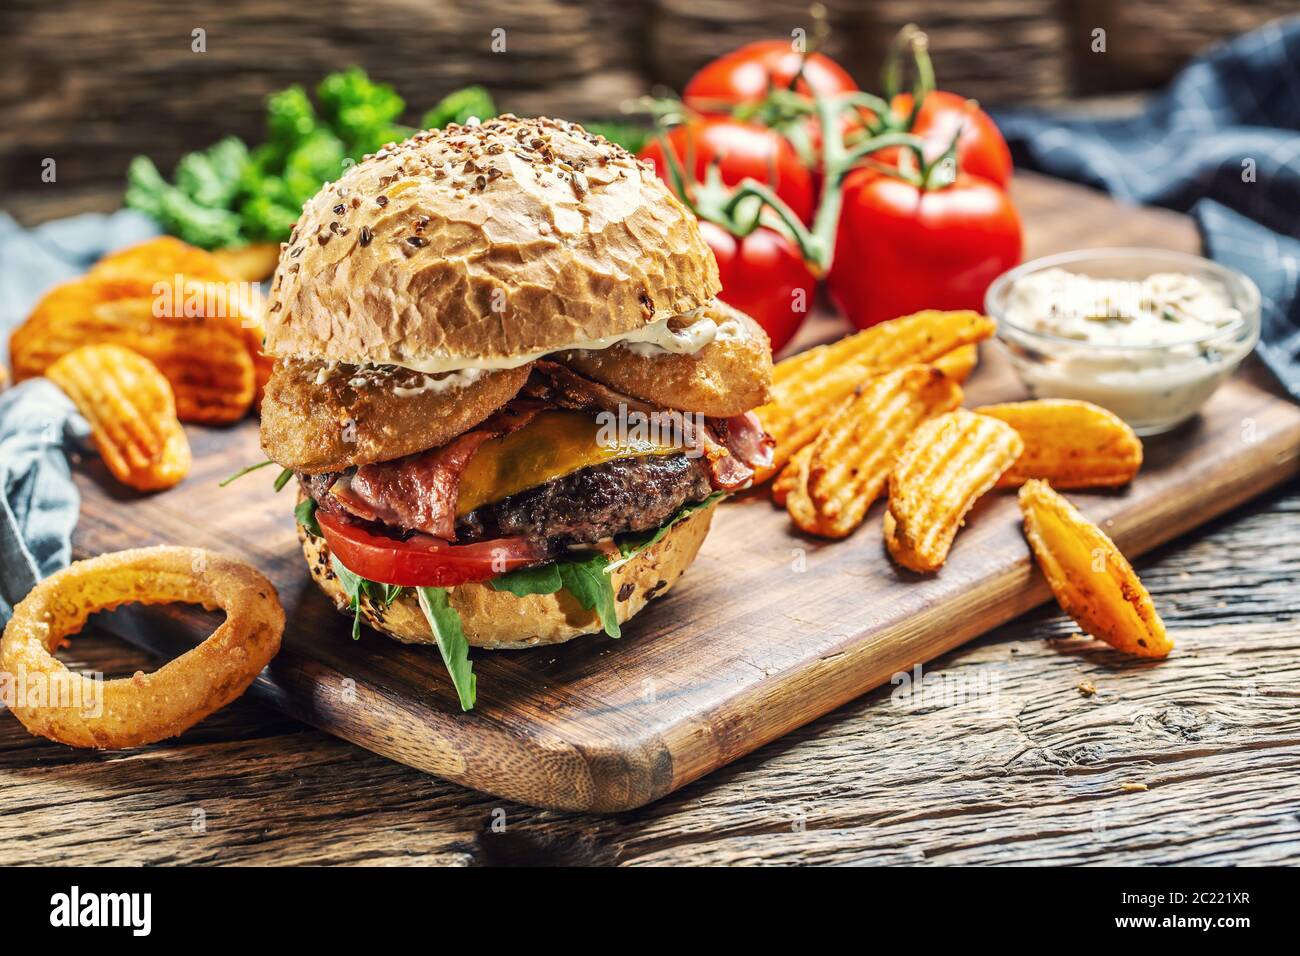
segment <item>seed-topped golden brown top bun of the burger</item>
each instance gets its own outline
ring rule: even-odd
[[[690,212],[627,151],[498,117],[381,150],[303,207],[268,306],[277,356],[428,367],[616,336],[710,302]]]

